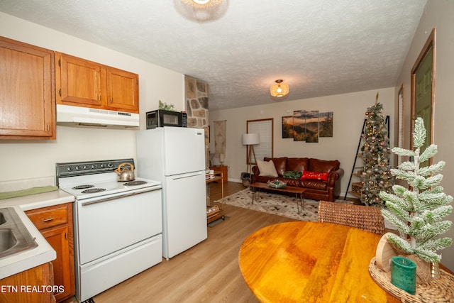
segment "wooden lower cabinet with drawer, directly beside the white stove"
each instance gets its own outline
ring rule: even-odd
[[[74,237],[72,231],[72,203],[26,211],[46,241],[57,253],[52,261],[57,302],[75,294]]]

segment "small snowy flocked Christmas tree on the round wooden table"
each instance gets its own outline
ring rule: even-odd
[[[398,169],[391,170],[397,179],[406,180],[411,189],[394,185],[394,194],[381,192],[380,197],[386,201],[387,209],[382,209],[385,219],[396,228],[409,235],[410,238],[401,238],[395,234],[388,237],[388,241],[409,255],[418,255],[426,262],[439,263],[441,255],[437,251],[449,247],[451,238],[438,238],[449,230],[451,221],[441,221],[453,211],[450,202],[453,197],[443,193],[443,187],[436,186],[443,179],[443,175],[433,175],[441,172],[445,162],[419,167],[419,163],[429,160],[437,153],[437,145],[429,145],[420,152],[426,140],[426,128],[423,119],[417,118],[414,126],[413,145],[415,150],[393,148],[397,155],[409,156],[413,161],[402,162]]]

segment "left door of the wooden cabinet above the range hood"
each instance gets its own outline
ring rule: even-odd
[[[106,72],[102,65],[55,53],[57,104],[100,108],[106,100]]]

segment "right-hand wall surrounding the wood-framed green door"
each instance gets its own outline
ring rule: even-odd
[[[411,109],[411,68],[426,43],[428,35],[436,28],[436,72],[435,72],[435,104],[434,104],[434,127],[433,143],[438,145],[438,153],[433,162],[444,160],[446,166],[441,172],[443,182],[441,185],[446,194],[454,196],[454,141],[452,130],[454,129],[454,1],[428,0],[426,9],[421,16],[421,21],[414,35],[409,53],[402,67],[397,87],[404,84],[404,111],[406,148],[410,141],[410,109]],[[453,204],[451,204],[453,205]],[[454,214],[448,217],[454,221]],[[454,238],[454,228],[443,236]],[[454,270],[454,246],[441,251],[443,258],[441,263]]]

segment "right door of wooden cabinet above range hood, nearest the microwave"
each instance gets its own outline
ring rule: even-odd
[[[107,106],[118,111],[139,112],[139,76],[106,67]]]

